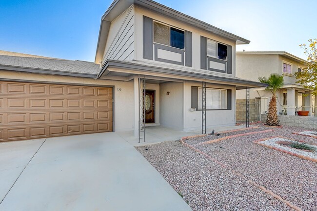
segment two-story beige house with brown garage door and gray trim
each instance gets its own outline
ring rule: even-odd
[[[236,77],[236,44],[247,43],[155,1],[115,0],[101,19],[95,63],[0,56],[0,140],[138,137],[143,120],[178,130],[233,126],[236,90],[265,85]]]

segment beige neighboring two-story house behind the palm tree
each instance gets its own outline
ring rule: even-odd
[[[277,112],[295,115],[297,110],[308,110],[313,114],[314,96],[310,90],[296,83],[295,72],[301,71],[306,61],[283,51],[237,52],[237,77],[257,81],[259,76],[269,77],[272,73],[284,76],[284,86],[277,91]],[[250,90],[250,99],[260,101],[260,113],[268,110],[272,97],[265,87]],[[237,102],[245,99],[245,91],[237,91]],[[238,115],[238,114],[237,114]]]

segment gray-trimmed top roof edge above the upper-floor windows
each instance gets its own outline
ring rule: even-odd
[[[170,7],[159,4],[153,0],[114,0],[110,5],[108,10],[104,13],[101,18],[100,30],[99,30],[99,38],[96,50],[95,63],[99,63],[102,60],[102,54],[104,52],[104,48],[106,45],[106,40],[108,36],[108,30],[111,24],[111,21],[116,19],[121,13],[123,13],[126,9],[128,9],[132,4],[140,5],[144,8],[154,10],[166,17],[170,17],[174,20],[185,22],[194,27],[198,27],[200,29],[206,30],[208,32],[212,32],[221,37],[227,38],[229,40],[235,41],[237,44],[249,44],[250,41],[241,38],[237,35],[219,29],[213,25],[210,25],[206,22],[199,21],[191,16],[185,15],[181,12],[178,12]]]

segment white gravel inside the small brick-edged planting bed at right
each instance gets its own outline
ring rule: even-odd
[[[276,147],[276,148],[280,148],[280,149],[284,149],[284,150],[292,152],[292,153],[301,154],[301,155],[306,156],[306,157],[311,157],[311,158],[317,159],[317,153],[313,153],[310,151],[304,151],[304,150],[300,150],[297,148],[291,148],[291,147],[277,144],[277,142],[279,142],[279,141],[294,142],[294,141],[287,139],[287,138],[285,139],[285,138],[276,137],[276,138],[267,139],[265,141],[260,141],[259,143],[262,143],[262,144],[265,144],[268,146],[272,146],[272,147]],[[313,146],[313,147],[316,147],[316,146]]]

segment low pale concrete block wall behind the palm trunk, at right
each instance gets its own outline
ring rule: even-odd
[[[267,114],[262,114],[262,122],[266,122]],[[307,129],[317,130],[317,117],[314,116],[290,116],[290,115],[277,115],[280,125],[305,127]]]

